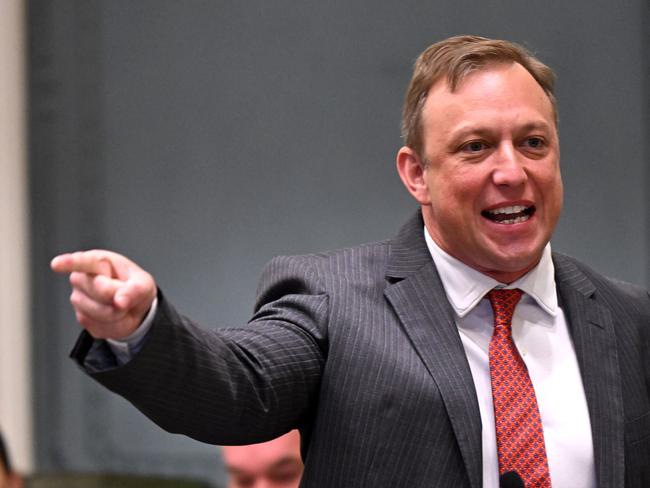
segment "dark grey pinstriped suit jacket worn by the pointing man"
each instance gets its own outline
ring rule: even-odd
[[[650,297],[555,255],[599,488],[650,487]],[[249,326],[206,331],[160,295],[142,350],[93,377],[171,432],[216,444],[303,434],[306,487],[481,487],[481,419],[418,213],[390,241],[279,257]],[[101,359],[104,358],[104,359]],[[571,398],[566,398],[571,402]]]

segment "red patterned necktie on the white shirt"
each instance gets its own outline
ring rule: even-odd
[[[528,369],[512,340],[511,323],[521,290],[492,290],[490,380],[497,434],[499,473],[516,471],[526,488],[550,488],[542,420]]]

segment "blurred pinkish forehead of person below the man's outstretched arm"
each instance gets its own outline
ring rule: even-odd
[[[247,446],[224,446],[228,488],[297,488],[302,475],[300,434]]]

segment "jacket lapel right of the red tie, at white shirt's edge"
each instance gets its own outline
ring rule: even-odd
[[[614,319],[591,281],[566,257],[553,256],[587,398],[598,488],[624,486],[624,417]]]

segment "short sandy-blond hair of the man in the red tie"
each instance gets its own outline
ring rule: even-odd
[[[498,63],[519,63],[535,78],[551,101],[557,125],[557,103],[553,94],[555,73],[551,68],[514,42],[455,36],[429,46],[415,61],[402,112],[404,144],[424,157],[422,109],[434,84],[445,77],[453,92],[471,72]]]

